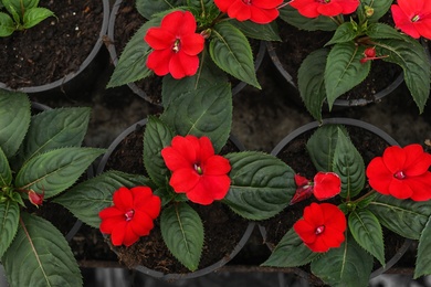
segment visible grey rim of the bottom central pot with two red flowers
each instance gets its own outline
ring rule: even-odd
[[[101,162],[98,163],[97,171],[96,171],[97,174],[102,173],[105,170],[106,162],[108,161],[109,157],[112,156],[112,153],[116,149],[116,147],[124,140],[124,138],[136,130],[140,130],[141,127],[144,127],[146,124],[147,124],[147,119],[141,119],[141,120],[135,123],[134,125],[129,126],[128,128],[126,128],[117,138],[114,139],[114,141],[109,145],[107,152],[103,156],[103,158],[101,159]],[[229,140],[232,141],[239,150],[244,150],[244,146],[234,136],[230,136]],[[236,246],[229,255],[221,255],[220,261],[211,264],[210,266],[198,269],[196,272],[185,273],[185,274],[182,274],[182,273],[166,274],[166,273],[150,269],[150,268],[148,268],[146,266],[141,266],[141,265],[134,267],[134,269],[136,269],[145,275],[149,275],[151,277],[164,279],[167,281],[179,280],[179,279],[190,279],[190,278],[196,278],[196,277],[207,275],[209,273],[216,272],[220,267],[228,264],[244,247],[245,243],[249,241],[249,237],[251,236],[251,234],[254,230],[254,225],[255,225],[254,222],[249,223],[241,240],[238,242]]]

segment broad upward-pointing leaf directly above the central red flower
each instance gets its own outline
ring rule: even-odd
[[[176,135],[207,136],[216,152],[225,145],[232,125],[232,92],[229,84],[190,91],[166,107],[160,119]]]

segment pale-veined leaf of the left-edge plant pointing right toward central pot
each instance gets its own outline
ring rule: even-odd
[[[45,199],[52,198],[70,188],[104,152],[95,148],[61,148],[35,156],[18,172],[15,187],[44,190]]]

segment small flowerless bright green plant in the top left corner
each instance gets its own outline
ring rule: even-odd
[[[30,29],[54,15],[51,10],[38,6],[39,0],[1,0],[0,36],[9,36],[14,31]]]

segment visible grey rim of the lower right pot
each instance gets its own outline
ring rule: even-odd
[[[328,118],[328,119],[324,119],[323,123],[313,121],[313,123],[306,124],[306,125],[295,129],[294,131],[290,132],[285,138],[283,138],[275,146],[275,148],[271,151],[271,153],[274,155],[274,156],[277,156],[278,153],[281,153],[281,151],[286,146],[288,146],[296,138],[298,138],[302,135],[304,135],[306,132],[309,132],[309,131],[312,131],[314,129],[317,129],[319,126],[330,125],[330,124],[338,124],[338,125],[344,125],[346,127],[350,126],[350,127],[357,127],[357,128],[360,128],[360,129],[365,129],[365,130],[376,135],[377,137],[380,137],[383,141],[386,141],[390,146],[399,146],[399,144],[392,137],[390,137],[387,132],[385,132],[383,130],[379,129],[378,127],[376,127],[376,126],[374,126],[371,124],[368,124],[368,123],[365,123],[365,121],[361,121],[361,120],[358,120],[358,119],[351,119],[351,118]],[[263,226],[262,224],[259,224],[259,230],[260,230],[261,235],[263,237],[263,242],[265,242],[266,246],[272,251],[275,246],[273,244],[270,244],[266,241],[267,232],[266,232],[265,226]],[[404,255],[404,253],[409,249],[409,247],[411,246],[412,243],[413,243],[412,240],[404,240],[402,246],[386,263],[386,266],[385,267],[381,266],[381,267],[375,269],[371,273],[370,279],[375,278],[375,277],[383,274],[388,269],[390,269],[398,261],[400,261],[402,255]],[[293,269],[294,269],[295,274],[304,277],[305,279],[307,279],[307,280],[315,280],[315,277],[312,276],[311,274],[306,273],[304,269],[302,269],[302,268],[293,268]]]

